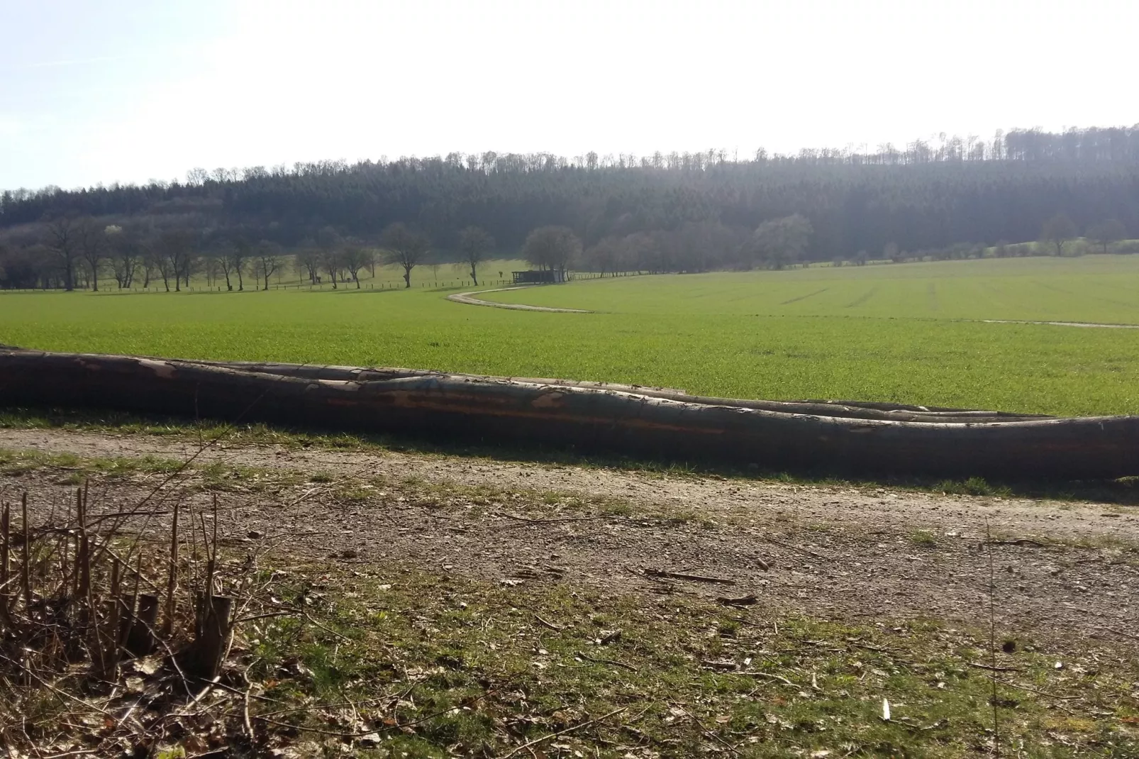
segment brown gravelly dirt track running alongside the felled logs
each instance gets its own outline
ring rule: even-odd
[[[89,458],[178,458],[196,450],[146,435],[8,430],[0,431],[0,448]],[[988,619],[984,537],[991,530],[1002,541],[992,552],[1006,628],[1133,634],[1139,618],[1134,508],[387,451],[219,447],[198,460],[331,475],[331,484],[302,478],[301,484],[262,492],[239,487],[221,497],[231,539],[265,533],[305,556],[411,561],[508,583],[560,579],[614,590],[754,593],[765,606],[790,612],[981,625]],[[0,480],[0,488],[28,487],[33,506],[48,507],[67,497],[69,485],[58,480],[41,468]],[[336,495],[336,480],[378,484],[345,499]],[[487,500],[469,485],[498,496]],[[118,509],[150,487],[108,480],[98,492],[107,508]],[[162,497],[175,492],[171,485]],[[180,497],[204,506],[211,495],[186,489]],[[582,501],[564,508],[573,498]],[[543,513],[554,521],[511,516]],[[661,582],[639,574],[645,566],[734,585]]]

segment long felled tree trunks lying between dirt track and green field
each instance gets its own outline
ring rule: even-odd
[[[1050,418],[877,403],[737,401],[413,369],[0,350],[0,406],[548,443],[859,475],[1139,474],[1136,416]]]

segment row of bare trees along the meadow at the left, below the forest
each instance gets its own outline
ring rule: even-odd
[[[254,239],[231,230],[192,226],[155,228],[146,223],[105,223],[95,217],[60,217],[43,226],[41,237],[22,247],[0,245],[0,287],[58,288],[98,292],[100,278],[114,287],[130,289],[164,287],[181,292],[191,278],[205,279],[210,288],[227,291],[269,289],[270,278],[286,270],[312,285],[330,284],[361,288],[360,276],[377,264],[402,270],[404,287],[421,264],[437,266],[431,239],[402,222],[390,225],[375,240],[345,236],[323,227],[292,251],[268,239]],[[475,285],[480,267],[495,250],[494,238],[481,227],[461,230],[461,267]],[[532,266],[563,274],[582,264],[581,240],[565,227],[543,227],[527,236],[522,254]]]

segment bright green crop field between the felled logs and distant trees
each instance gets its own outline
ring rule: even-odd
[[[495,267],[497,274],[497,267]],[[1139,256],[974,260],[450,289],[0,295],[0,343],[607,379],[755,398],[1139,414]]]

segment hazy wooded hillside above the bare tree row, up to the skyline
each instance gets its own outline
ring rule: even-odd
[[[803,150],[747,158],[724,152],[568,160],[548,154],[462,155],[319,162],[272,169],[195,169],[182,182],[0,196],[9,247],[42,242],[42,222],[92,215],[158,228],[231,232],[286,247],[322,228],[370,239],[392,222],[453,250],[468,225],[499,250],[517,251],[543,225],[572,228],[591,246],[606,238],[677,232],[656,240],[661,270],[738,266],[739,237],[763,221],[801,214],[813,230],[811,261],[958,243],[1036,239],[1066,214],[1082,232],[1118,220],[1139,231],[1139,129],[1049,134],[1015,130],[992,141],[920,140],[875,153]],[[1125,236],[1125,235],[1124,235]],[[706,253],[691,260],[691,251]]]

